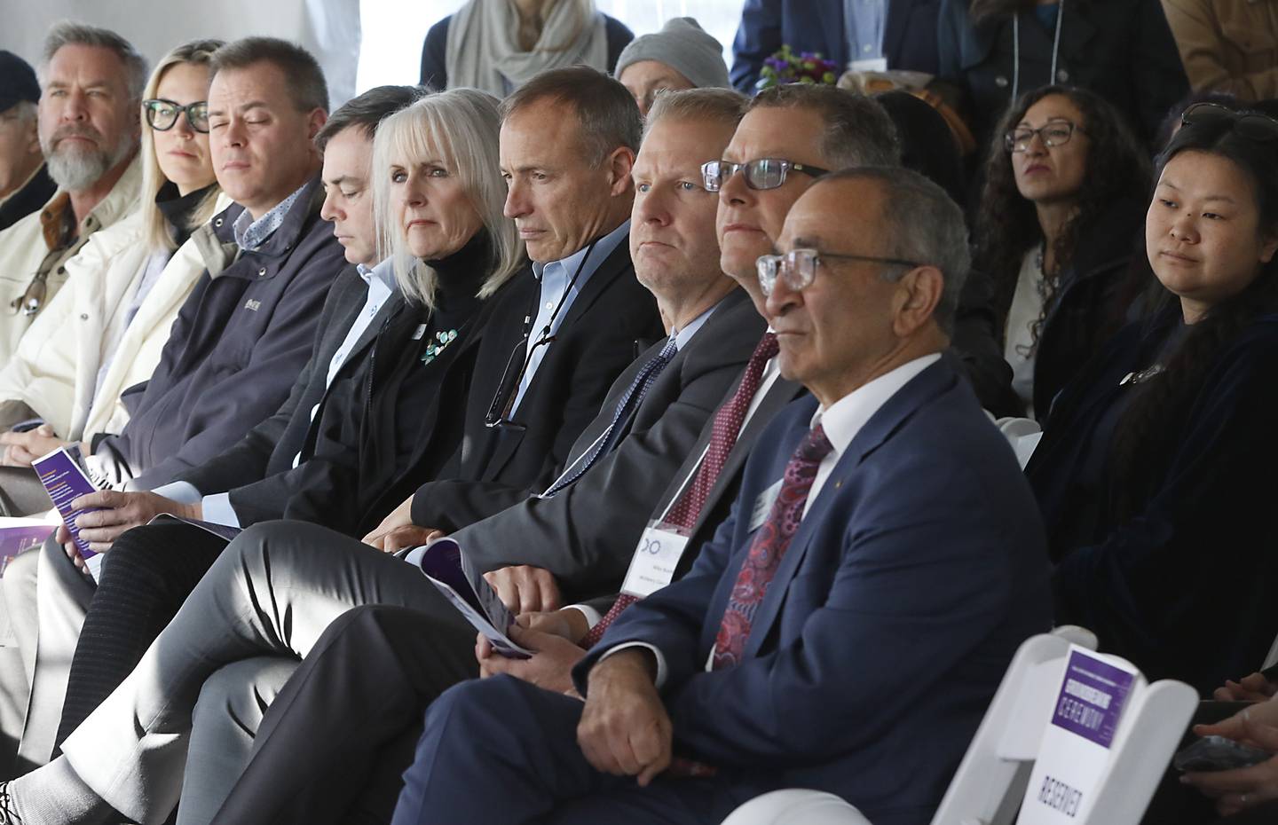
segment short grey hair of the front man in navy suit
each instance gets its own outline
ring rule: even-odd
[[[813,186],[846,180],[865,180],[879,185],[883,193],[887,257],[941,269],[944,289],[932,315],[950,333],[958,309],[958,294],[971,268],[967,223],[962,209],[944,189],[901,166],[845,169],[822,176]],[[884,277],[895,281],[904,275],[905,269],[896,268]]]

